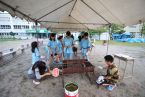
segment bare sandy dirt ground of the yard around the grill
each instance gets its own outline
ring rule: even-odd
[[[135,58],[133,79],[124,79],[118,83],[112,92],[105,88],[97,88],[95,80],[90,84],[83,74],[71,74],[64,77],[65,82],[77,82],[79,97],[145,97],[145,48],[127,46],[109,46],[108,54],[123,53]],[[44,54],[44,46],[41,47]],[[97,66],[103,66],[103,57],[106,55],[106,46],[96,45],[89,53],[89,60],[96,67],[96,72],[102,72]],[[118,64],[118,60],[115,59]],[[131,72],[131,64],[128,64],[127,75]],[[27,78],[27,71],[31,67],[30,48],[24,54],[17,55],[6,64],[0,64],[0,97],[64,97],[64,89],[61,77],[47,78],[40,85],[34,85]],[[125,63],[121,62],[120,75],[124,70]],[[96,76],[93,76],[96,78]]]

